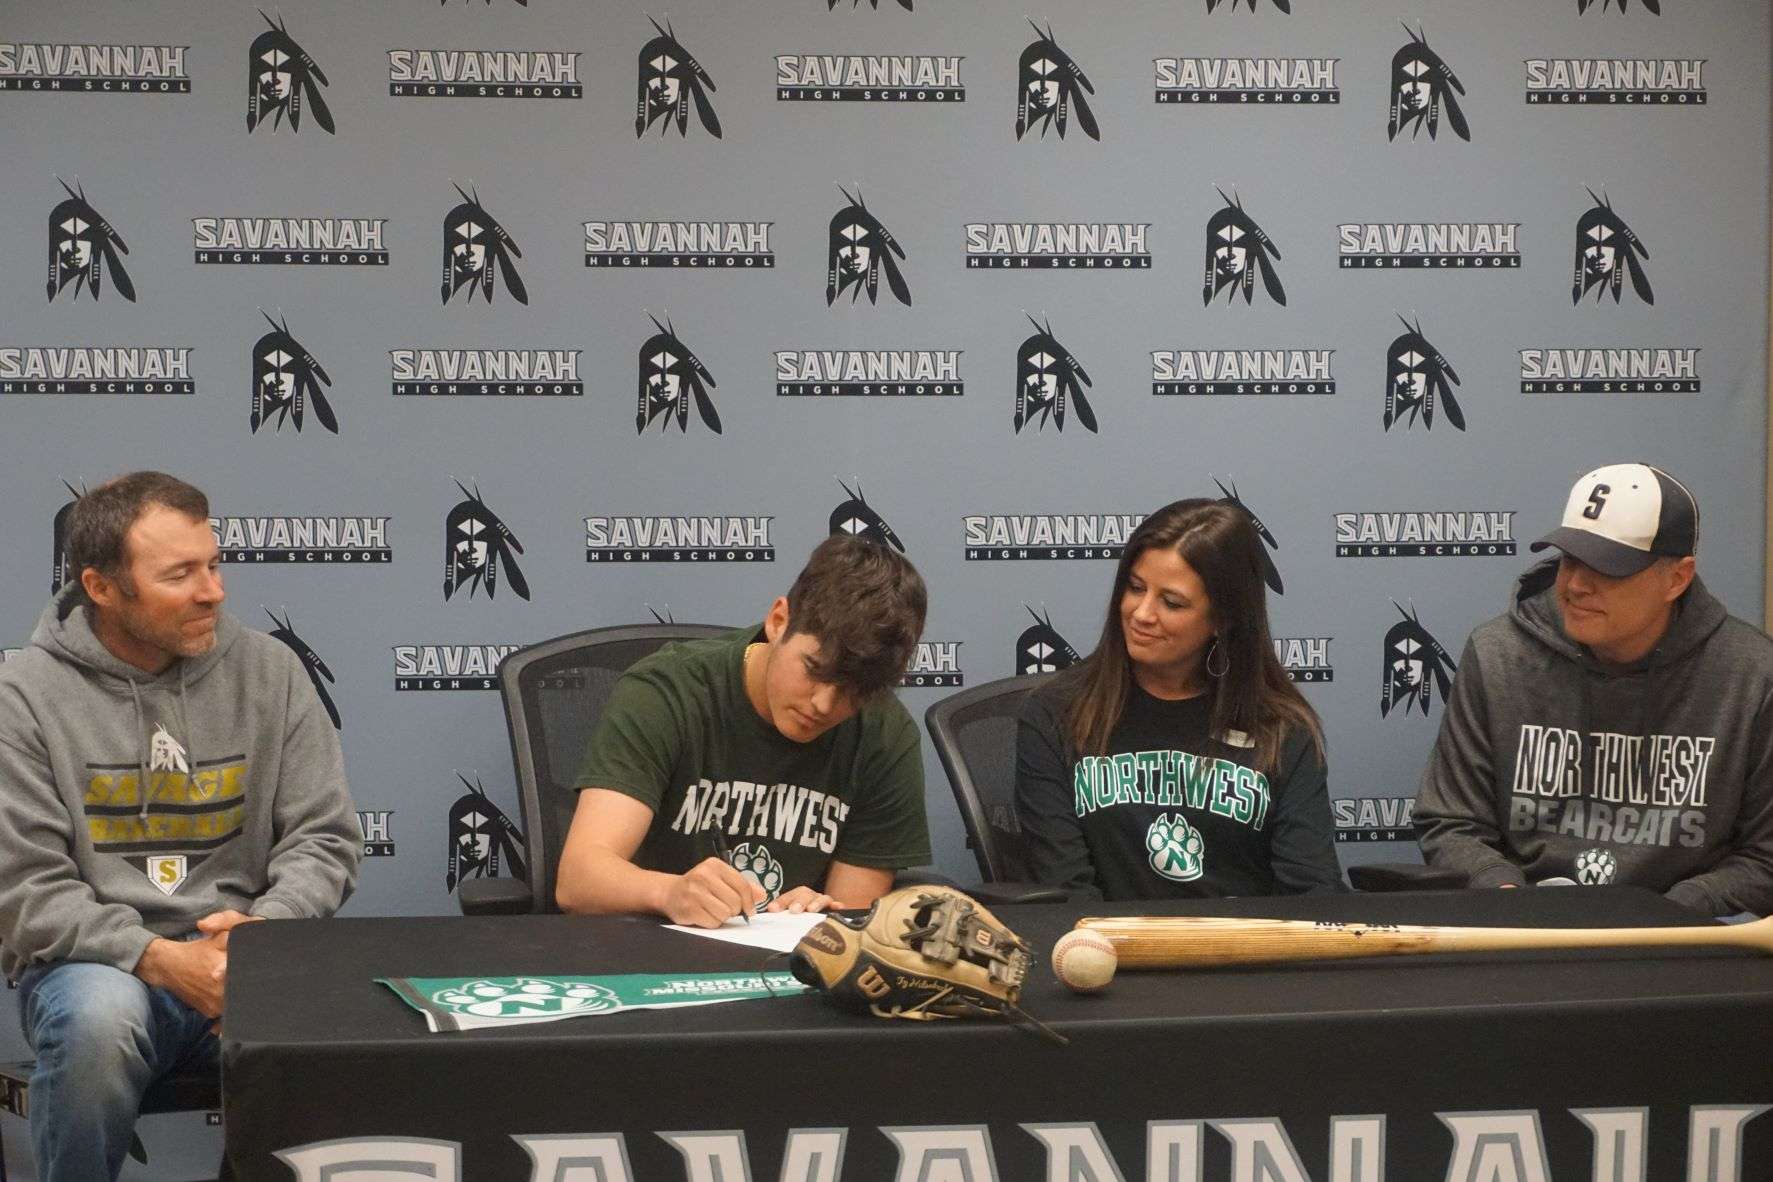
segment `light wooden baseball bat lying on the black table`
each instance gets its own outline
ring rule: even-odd
[[[1076,927],[1106,936],[1122,969],[1523,948],[1734,946],[1773,953],[1773,916],[1704,927],[1413,927],[1147,914],[1089,916]]]

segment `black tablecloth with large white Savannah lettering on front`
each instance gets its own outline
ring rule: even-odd
[[[1755,1111],[1773,1104],[1773,957],[1429,955],[1058,985],[1046,950],[1080,914],[1147,913],[1704,921],[1629,888],[1005,907],[1041,952],[1023,1007],[1064,1047],[816,996],[433,1035],[374,978],[757,969],[769,953],[638,918],[255,923],[232,937],[229,1163],[241,1178],[475,1182],[1532,1182],[1544,1163],[1544,1182],[1613,1182],[1599,1155],[1619,1182],[1773,1178],[1773,1115]],[[537,1138],[569,1139],[537,1157]],[[426,1173],[401,1164],[413,1143]],[[351,1173],[371,1161],[387,1173]]]

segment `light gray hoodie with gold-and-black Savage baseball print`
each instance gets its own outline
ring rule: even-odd
[[[332,914],[362,835],[301,661],[225,611],[158,677],[99,642],[78,583],[0,665],[0,971],[122,971],[211,911]],[[147,792],[142,792],[142,783]]]

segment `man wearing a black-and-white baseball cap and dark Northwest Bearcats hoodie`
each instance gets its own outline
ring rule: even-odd
[[[1417,794],[1429,865],[1773,913],[1773,640],[1699,579],[1693,494],[1596,468],[1546,548],[1466,642]]]

